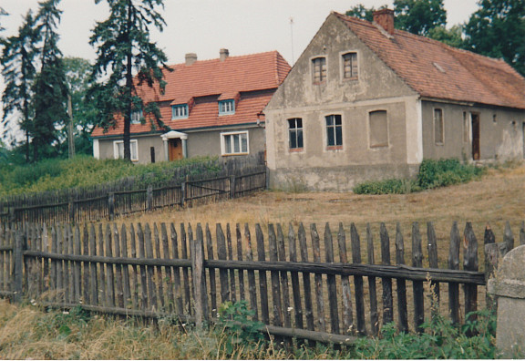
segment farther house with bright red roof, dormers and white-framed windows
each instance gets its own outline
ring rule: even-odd
[[[264,115],[273,92],[283,82],[290,66],[277,52],[197,60],[187,54],[186,62],[165,71],[164,91],[159,85],[138,87],[147,105],[156,102],[160,121],[142,111],[131,115],[131,159],[148,163],[195,156],[246,156],[264,150]],[[146,118],[146,119],[144,119]],[[122,158],[124,122],[115,127],[96,128],[94,156]]]

